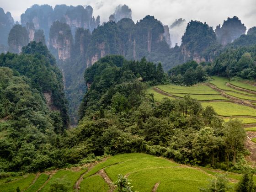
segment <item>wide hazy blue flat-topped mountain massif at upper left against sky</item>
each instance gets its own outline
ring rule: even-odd
[[[100,16],[95,19],[92,12],[91,6],[56,5],[53,9],[50,5],[33,5],[21,15],[21,25],[33,23],[35,29],[43,29],[46,40],[48,40],[49,30],[54,21],[67,23],[73,35],[80,27],[92,32],[100,25]]]

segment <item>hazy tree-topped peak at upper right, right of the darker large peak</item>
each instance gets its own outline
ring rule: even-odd
[[[222,27],[218,25],[215,29],[217,40],[222,45],[232,43],[235,39],[245,34],[245,31],[245,25],[241,23],[237,16],[228,18],[223,22]]]

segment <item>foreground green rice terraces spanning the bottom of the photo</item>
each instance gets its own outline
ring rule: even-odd
[[[177,164],[170,160],[140,153],[115,155],[102,162],[75,169],[51,171],[0,179],[1,192],[48,192],[51,183],[61,180],[69,184],[69,192],[115,192],[112,184],[118,174],[127,176],[133,189],[139,192],[186,192],[206,187],[208,179],[220,171]],[[227,173],[229,185],[234,186],[241,175]],[[254,177],[256,181],[256,177]]]

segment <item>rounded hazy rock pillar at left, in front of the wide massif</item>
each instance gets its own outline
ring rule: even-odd
[[[28,32],[25,27],[15,25],[12,27],[8,36],[10,52],[21,53],[21,48],[29,42]]]

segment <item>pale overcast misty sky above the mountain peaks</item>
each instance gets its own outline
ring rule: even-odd
[[[93,15],[100,15],[101,22],[108,21],[117,5],[126,4],[132,9],[134,22],[152,15],[167,25],[184,18],[205,21],[215,28],[227,17],[238,16],[247,29],[256,26],[256,0],[0,0],[0,7],[10,11],[15,21],[20,21],[21,14],[34,4],[48,4],[53,8],[58,4],[91,5]]]

